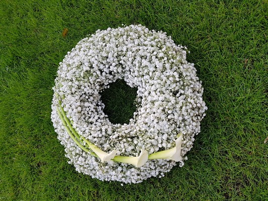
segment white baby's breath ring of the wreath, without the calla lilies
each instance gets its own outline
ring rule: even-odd
[[[141,25],[101,31],[82,39],[68,52],[55,79],[51,119],[66,157],[78,172],[100,180],[138,183],[163,176],[176,163],[148,160],[143,166],[105,161],[84,152],[70,138],[57,114],[59,104],[80,136],[122,156],[139,156],[174,147],[182,134],[182,160],[200,132],[207,107],[203,88],[187,48],[174,44],[166,33]],[[136,106],[129,124],[112,124],[104,114],[100,92],[117,79],[137,87]]]

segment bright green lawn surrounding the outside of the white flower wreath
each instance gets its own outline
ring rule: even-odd
[[[267,0],[2,0],[0,8],[0,200],[268,199]],[[184,167],[124,186],[77,173],[50,121],[58,63],[87,34],[122,23],[186,45],[208,106]]]

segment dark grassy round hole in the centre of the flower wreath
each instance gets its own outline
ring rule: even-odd
[[[104,114],[112,124],[129,124],[136,111],[136,96],[137,88],[130,87],[123,79],[116,80],[101,92]]]

